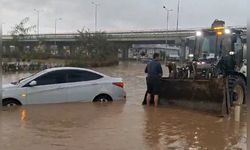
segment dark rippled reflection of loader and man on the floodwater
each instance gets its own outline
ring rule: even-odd
[[[196,112],[197,113],[197,112]],[[245,118],[246,119],[246,118]],[[145,109],[145,143],[152,149],[224,149],[246,140],[245,124],[179,108]],[[236,129],[236,130],[235,130]],[[245,141],[246,142],[246,141]],[[244,143],[244,142],[243,142]],[[243,144],[240,148],[244,149]]]

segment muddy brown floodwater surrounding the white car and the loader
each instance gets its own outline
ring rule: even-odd
[[[246,149],[246,109],[236,122],[233,114],[220,118],[180,107],[142,106],[144,67],[134,62],[94,68],[124,79],[123,102],[29,105],[0,112],[0,149]],[[27,75],[5,74],[3,83]]]

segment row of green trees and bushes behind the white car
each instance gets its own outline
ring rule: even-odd
[[[75,45],[70,48],[48,48],[45,39],[42,38],[38,39],[35,46],[30,47],[22,41],[24,38],[29,38],[30,32],[35,28],[34,25],[28,24],[29,18],[26,17],[13,27],[11,45],[15,46],[15,50],[6,52],[5,56],[18,60],[59,58],[65,59],[68,66],[77,67],[118,63],[118,48],[108,41],[109,36],[105,32],[78,30]]]

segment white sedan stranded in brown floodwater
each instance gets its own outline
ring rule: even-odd
[[[90,69],[59,67],[3,85],[3,106],[124,100],[121,78]]]

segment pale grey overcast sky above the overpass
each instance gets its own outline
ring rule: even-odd
[[[0,0],[0,21],[3,33],[11,30],[23,18],[37,24],[40,10],[40,33],[76,32],[83,27],[95,29],[94,5],[98,7],[98,29],[105,31],[166,29],[170,12],[169,29],[176,28],[178,0]],[[230,26],[246,26],[247,0],[180,0],[179,28],[209,27],[213,20],[222,19]],[[35,32],[35,31],[34,31]]]

